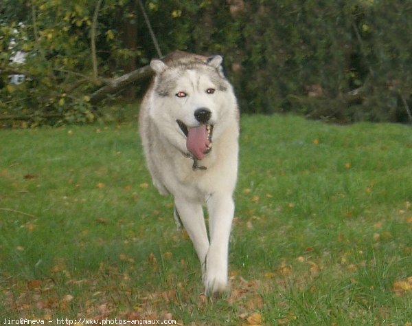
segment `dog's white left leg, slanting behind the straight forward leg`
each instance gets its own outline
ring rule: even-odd
[[[203,218],[202,205],[175,197],[174,206],[179,220],[193,242],[194,250],[196,250],[201,265],[204,266],[207,250],[209,250],[209,239],[205,219]]]

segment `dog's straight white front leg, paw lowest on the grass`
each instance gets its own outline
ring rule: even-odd
[[[210,246],[203,282],[206,293],[216,295],[227,290],[229,237],[235,205],[231,195],[214,193],[207,201],[207,208]]]

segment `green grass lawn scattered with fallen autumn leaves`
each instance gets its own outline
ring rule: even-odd
[[[0,138],[1,318],[412,323],[410,127],[242,116],[231,292],[212,302],[134,122]]]

